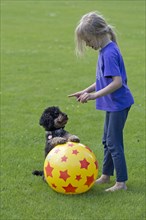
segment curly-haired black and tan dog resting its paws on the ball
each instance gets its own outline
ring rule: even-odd
[[[80,142],[77,136],[64,130],[67,121],[67,114],[61,112],[58,107],[52,106],[44,110],[39,123],[46,131],[45,157],[58,144],[64,144],[67,141]],[[43,171],[35,170],[33,174],[43,176]]]

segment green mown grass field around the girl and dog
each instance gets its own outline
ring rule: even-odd
[[[44,130],[39,117],[58,105],[69,115],[66,129],[97,156],[102,170],[104,113],[68,94],[95,80],[97,53],[77,59],[74,29],[80,17],[100,11],[116,26],[133,105],[125,127],[128,191],[54,192],[34,169],[43,166]],[[1,0],[1,219],[145,219],[145,1]],[[114,184],[114,177],[111,184]]]

